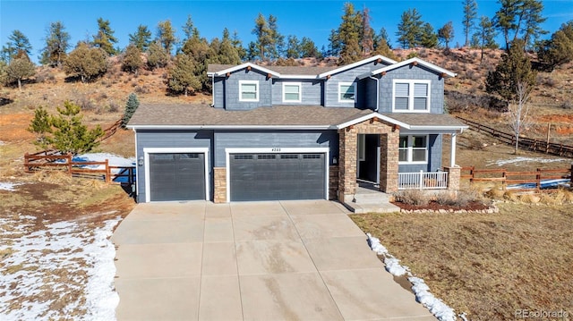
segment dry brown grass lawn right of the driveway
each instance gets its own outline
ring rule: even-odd
[[[573,209],[500,203],[500,214],[351,215],[471,320],[573,311]]]

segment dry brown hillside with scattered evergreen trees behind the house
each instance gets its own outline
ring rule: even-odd
[[[117,46],[114,21],[100,17],[95,34],[75,45],[64,21],[50,23],[38,66],[29,57],[30,40],[13,30],[0,52],[1,111],[71,100],[101,115],[121,109],[130,93],[142,102],[208,103],[210,63],[340,65],[370,55],[397,61],[418,56],[458,73],[446,81],[450,113],[487,114],[487,122],[502,125],[509,107],[518,101],[519,86],[526,85],[527,104],[545,123],[534,123],[522,133],[542,135],[546,122],[556,122],[556,132],[573,132],[573,21],[550,33],[540,27],[546,19],[541,1],[500,0],[492,17],[478,16],[475,0],[461,1],[458,19],[463,30],[454,30],[452,21],[432,26],[415,7],[401,13],[393,35],[397,47],[391,46],[384,28],[372,29],[368,8],[357,10],[351,3],[344,4],[340,20],[334,22],[338,26],[330,30],[329,45],[321,49],[304,35],[282,34],[274,14],[253,17],[254,40],[246,45],[236,31],[224,27],[220,38],[202,37],[189,15],[183,26],[169,20],[156,26],[140,24],[124,48]],[[452,43],[456,32],[463,33],[464,46]],[[502,44],[496,42],[498,36]]]

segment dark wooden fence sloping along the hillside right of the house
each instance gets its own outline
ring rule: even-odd
[[[504,131],[498,131],[492,127],[483,125],[479,122],[470,121],[469,119],[456,116],[460,121],[465,122],[470,128],[477,132],[485,132],[492,135],[496,139],[515,146],[516,137],[514,134]],[[562,156],[573,158],[573,146],[564,144],[555,144],[548,141],[543,141],[540,139],[528,139],[526,137],[519,138],[519,148],[533,150],[535,152],[541,152],[554,156]]]

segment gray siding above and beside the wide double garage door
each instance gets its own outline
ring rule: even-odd
[[[329,164],[338,158],[337,131],[217,131],[215,167],[226,166],[225,148],[329,148]]]

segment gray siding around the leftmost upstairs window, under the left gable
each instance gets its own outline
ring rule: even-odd
[[[239,101],[239,80],[258,80],[259,81],[259,101],[243,102]],[[233,72],[225,80],[225,108],[227,110],[249,110],[261,106],[272,105],[272,79],[267,80],[267,75],[254,69],[246,69]]]

